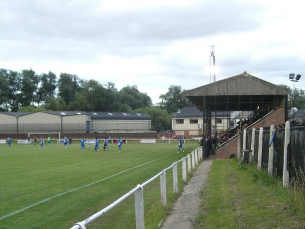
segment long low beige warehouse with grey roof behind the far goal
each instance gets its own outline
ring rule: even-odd
[[[151,132],[145,113],[38,111],[0,112],[0,134],[59,132],[62,134],[113,134]],[[155,132],[155,131],[154,131]]]

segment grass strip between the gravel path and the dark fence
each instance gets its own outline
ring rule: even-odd
[[[216,160],[195,228],[304,228],[304,195],[303,210],[294,207],[294,195],[264,170],[236,159]]]

